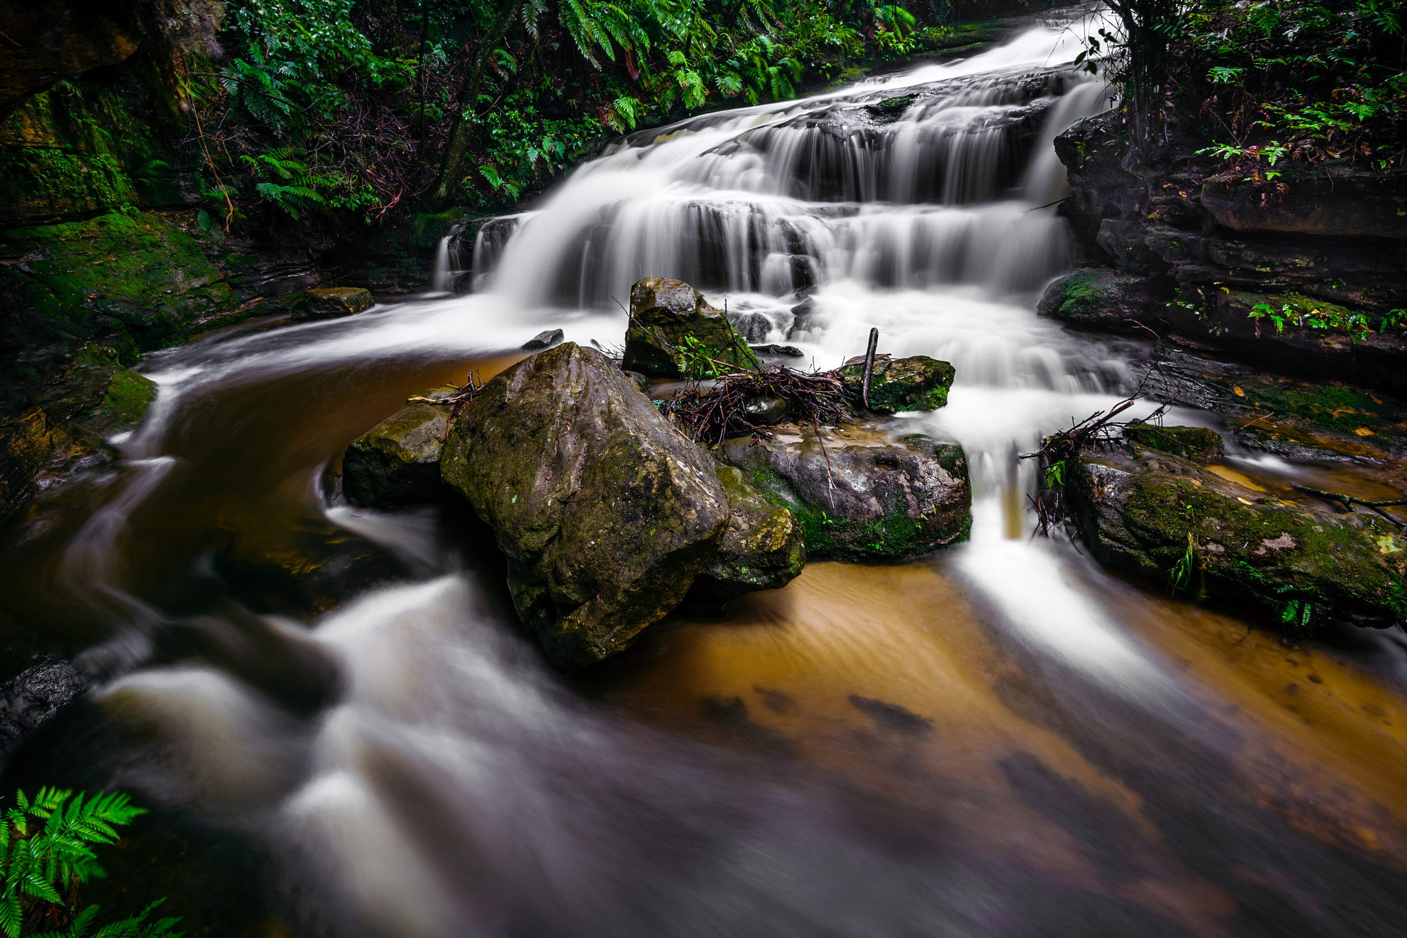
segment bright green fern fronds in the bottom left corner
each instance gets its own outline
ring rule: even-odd
[[[97,906],[77,908],[79,886],[106,876],[93,847],[117,842],[117,828],[145,813],[121,792],[87,797],[42,788],[34,800],[18,792],[0,823],[0,931],[8,938],[179,938],[177,918],[152,918],[165,900],[101,927]]]

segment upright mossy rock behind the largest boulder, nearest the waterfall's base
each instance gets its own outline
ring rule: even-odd
[[[630,290],[630,329],[623,367],[651,377],[678,378],[688,352],[736,368],[756,368],[757,356],[727,318],[682,280],[646,277]]]

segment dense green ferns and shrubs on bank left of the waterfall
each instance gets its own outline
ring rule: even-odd
[[[910,55],[947,13],[875,0],[229,0],[224,53],[193,51],[187,65],[203,218],[376,219],[442,190],[492,211],[608,134],[792,98],[855,60]]]

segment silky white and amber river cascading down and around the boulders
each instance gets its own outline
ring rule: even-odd
[[[1031,537],[1017,457],[1147,360],[1034,312],[1071,263],[1051,141],[1109,105],[1086,25],[636,135],[464,245],[471,294],[148,359],[120,470],[8,548],[7,603],[94,676],[8,782],[156,806],[113,882],[191,934],[1401,935],[1403,637],[1290,643]],[[563,678],[470,512],[325,499],[408,395],[545,328],[619,346],[644,276],[796,364],[871,326],[951,361],[900,419],[965,447],[971,541],[810,564]],[[267,613],[287,568],[342,602]]]

